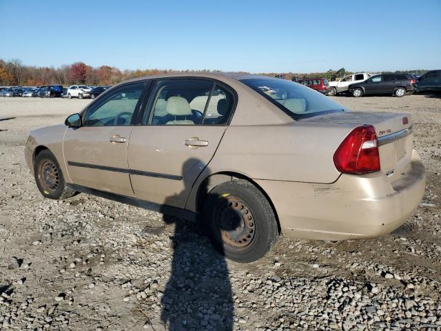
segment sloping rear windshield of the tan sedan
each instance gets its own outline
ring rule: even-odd
[[[320,92],[285,79],[252,78],[240,81],[274,103],[293,119],[346,110],[340,103]]]

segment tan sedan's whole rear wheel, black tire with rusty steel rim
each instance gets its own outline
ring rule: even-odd
[[[203,226],[210,241],[228,259],[260,259],[276,243],[278,225],[271,204],[249,181],[217,185],[205,199]]]

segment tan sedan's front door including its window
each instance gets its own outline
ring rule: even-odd
[[[72,183],[134,196],[127,167],[127,146],[146,84],[116,88],[83,112],[83,126],[66,130],[63,151]]]

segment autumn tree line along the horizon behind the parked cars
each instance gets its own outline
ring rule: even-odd
[[[100,66],[94,68],[83,62],[76,62],[70,65],[54,67],[25,66],[19,59],[4,61],[0,59],[0,86],[42,86],[42,85],[63,85],[84,84],[89,86],[114,85],[126,79],[151,76],[154,74],[166,74],[174,72],[215,72],[218,70],[119,70],[111,66]],[[396,70],[393,73],[412,72],[424,74],[427,70]],[[247,73],[247,72],[240,72]],[[343,77],[351,74],[345,68],[339,70],[328,70],[327,72],[294,73],[284,72],[285,79],[291,80],[293,77]],[[380,73],[380,72],[379,72]],[[381,72],[391,73],[391,72]],[[276,76],[280,72],[262,73],[265,76]]]

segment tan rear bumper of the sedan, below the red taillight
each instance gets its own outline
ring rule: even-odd
[[[413,150],[411,163],[394,181],[382,172],[342,174],[331,184],[257,180],[269,195],[289,237],[344,240],[378,237],[398,228],[418,208],[425,170]]]

